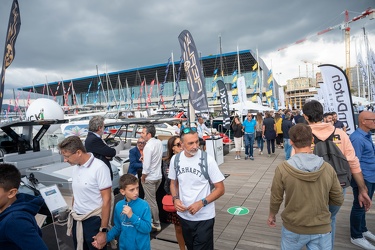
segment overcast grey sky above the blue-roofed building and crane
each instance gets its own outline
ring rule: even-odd
[[[0,57],[12,0],[0,1]],[[67,80],[99,73],[166,63],[181,55],[178,35],[191,32],[202,56],[222,51],[258,49],[279,82],[311,74],[312,64],[345,67],[343,33],[335,29],[312,36],[350,19],[374,0],[19,0],[21,30],[16,56],[5,75],[5,98],[12,88]],[[365,27],[375,46],[375,19],[351,25],[351,66],[355,44],[363,46]],[[312,36],[312,37],[311,37]],[[304,37],[308,41],[290,45]],[[315,66],[314,71],[318,69]],[[276,74],[277,73],[277,74]],[[281,74],[280,74],[281,73]]]

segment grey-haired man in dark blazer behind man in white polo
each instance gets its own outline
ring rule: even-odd
[[[111,172],[111,180],[113,173],[111,168],[112,157],[116,155],[116,149],[109,147],[103,140],[104,133],[104,117],[94,116],[89,122],[89,132],[85,140],[85,148],[87,152],[93,153],[95,158],[102,160]]]

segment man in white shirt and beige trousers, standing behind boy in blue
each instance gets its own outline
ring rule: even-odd
[[[141,136],[146,142],[143,149],[143,170],[142,170],[142,186],[145,191],[145,200],[148,202],[152,213],[152,228],[156,231],[161,230],[159,220],[159,208],[156,202],[156,191],[158,190],[161,179],[161,158],[163,156],[163,144],[159,139],[155,138],[156,129],[154,125],[146,125],[143,127]]]

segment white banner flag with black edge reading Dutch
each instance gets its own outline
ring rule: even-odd
[[[342,69],[335,65],[319,65],[326,90],[333,96],[333,110],[346,126],[346,133],[355,131],[352,96],[349,81]]]

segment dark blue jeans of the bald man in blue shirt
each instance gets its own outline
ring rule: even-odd
[[[368,196],[372,200],[372,196],[375,191],[375,183],[371,183],[365,180],[365,184],[368,190]],[[367,232],[366,227],[366,211],[364,207],[359,206],[358,202],[358,186],[352,179],[352,188],[353,188],[353,206],[352,211],[350,212],[350,237],[357,239],[362,238],[362,233]]]

